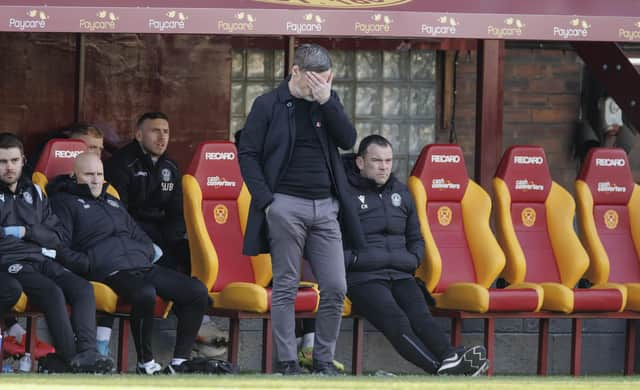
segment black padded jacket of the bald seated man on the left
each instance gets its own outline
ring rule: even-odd
[[[115,271],[152,266],[153,242],[104,189],[94,198],[89,186],[62,175],[47,185],[47,193],[60,218],[65,248],[58,257],[66,268],[103,281]]]

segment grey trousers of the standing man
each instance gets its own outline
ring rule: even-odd
[[[320,287],[313,358],[333,360],[347,291],[339,207],[334,198],[275,194],[267,210],[273,268],[271,319],[278,361],[298,360],[294,302],[303,256]]]

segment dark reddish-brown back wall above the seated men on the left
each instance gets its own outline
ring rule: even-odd
[[[78,81],[75,34],[0,33],[0,131],[16,133],[27,157],[76,117],[114,143],[129,142],[137,117],[164,111],[169,154],[186,169],[198,143],[228,139],[231,41],[226,37],[86,34]],[[82,85],[82,104],[75,96]]]

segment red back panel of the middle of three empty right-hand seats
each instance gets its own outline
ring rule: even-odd
[[[560,273],[547,229],[545,202],[552,179],[544,150],[512,146],[504,153],[496,177],[511,197],[511,220],[526,259],[527,282],[560,282]]]

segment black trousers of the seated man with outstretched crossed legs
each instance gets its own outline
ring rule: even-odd
[[[403,358],[426,372],[435,373],[453,353],[413,278],[352,286],[347,296],[356,313],[382,332]]]

